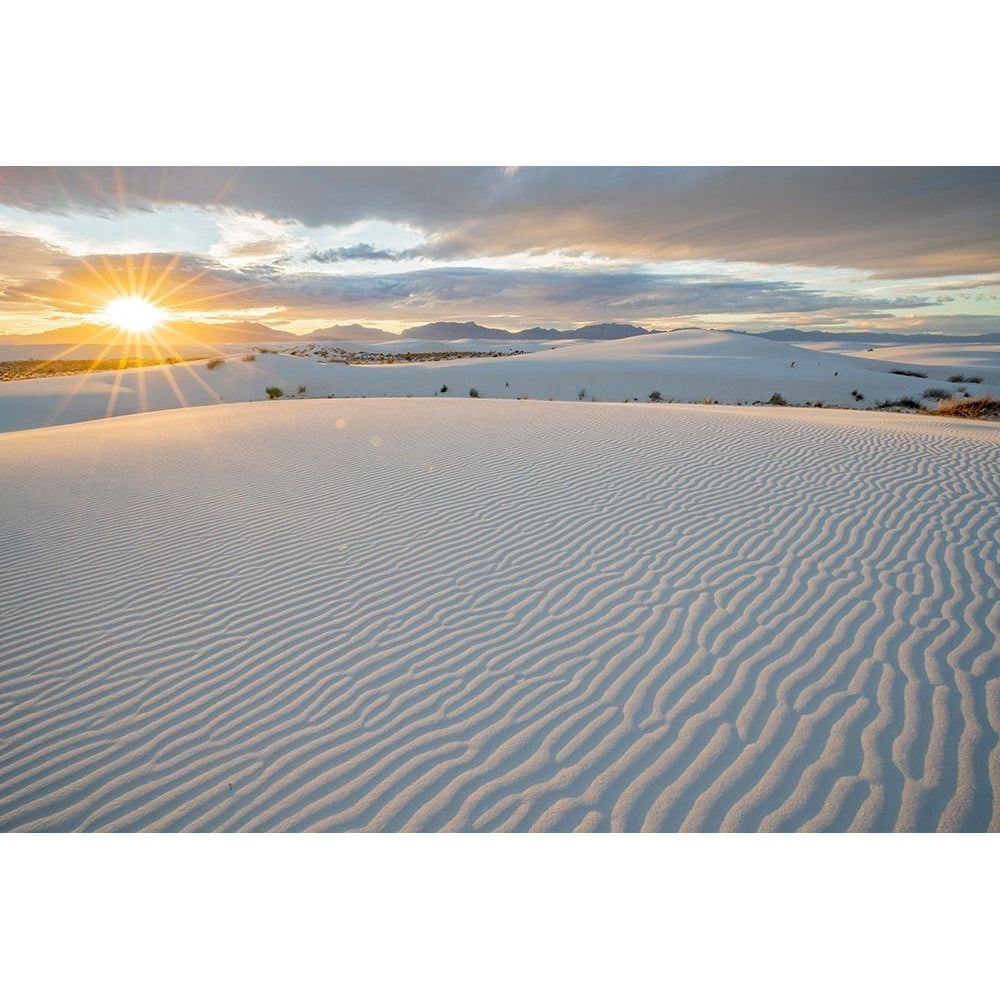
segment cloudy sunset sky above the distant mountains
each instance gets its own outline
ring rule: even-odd
[[[1000,168],[0,167],[0,333],[1000,331]]]

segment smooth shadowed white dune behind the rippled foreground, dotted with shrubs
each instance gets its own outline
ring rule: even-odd
[[[321,345],[324,349],[338,345]],[[342,346],[342,345],[341,345]],[[360,345],[372,349],[373,345]],[[414,344],[445,351],[455,346],[487,350],[510,345],[467,342]],[[398,348],[399,345],[393,345]],[[304,350],[305,345],[296,345]],[[0,431],[24,430],[176,407],[250,402],[266,398],[269,386],[307,398],[347,396],[468,396],[475,389],[492,399],[576,400],[583,392],[599,402],[664,400],[700,403],[766,402],[774,393],[789,403],[856,408],[927,389],[959,389],[972,395],[996,392],[1000,368],[980,385],[947,381],[961,367],[943,367],[937,377],[892,374],[894,367],[868,355],[847,357],[806,350],[746,334],[677,330],[624,340],[571,345],[531,345],[515,357],[461,359],[392,365],[323,364],[312,357],[241,354],[209,369],[206,362],[94,372],[60,378],[0,383]],[[942,362],[943,364],[943,362]],[[442,390],[446,392],[442,393]],[[859,402],[852,393],[863,397]],[[282,404],[279,404],[282,405]]]

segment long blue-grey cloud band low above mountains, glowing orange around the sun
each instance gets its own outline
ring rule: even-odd
[[[336,252],[341,250],[355,259],[378,252],[370,244]],[[289,272],[274,262],[222,265],[191,254],[52,256],[47,270],[25,272],[2,287],[8,307],[75,316],[101,310],[109,298],[142,294],[181,314],[267,310],[288,319],[382,317],[406,323],[504,316],[524,317],[525,325],[565,326],[773,316],[778,325],[816,325],[864,322],[938,305],[933,295],[834,294],[795,281],[698,273],[422,267],[388,274],[330,274]]]

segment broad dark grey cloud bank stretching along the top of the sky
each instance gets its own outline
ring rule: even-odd
[[[564,251],[882,277],[1000,271],[995,167],[8,167],[0,202],[218,206],[310,227],[381,219],[421,231],[422,252],[443,262]]]

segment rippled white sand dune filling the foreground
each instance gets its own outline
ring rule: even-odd
[[[485,399],[0,436],[0,827],[1000,829],[998,446]]]

